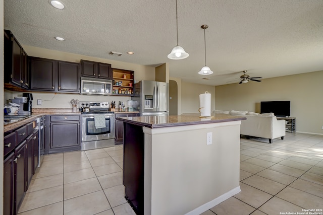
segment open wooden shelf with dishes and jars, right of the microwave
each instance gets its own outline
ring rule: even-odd
[[[112,95],[133,96],[134,71],[112,68],[113,89]]]

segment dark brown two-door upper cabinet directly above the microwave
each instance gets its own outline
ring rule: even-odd
[[[111,64],[81,60],[82,77],[112,79]]]

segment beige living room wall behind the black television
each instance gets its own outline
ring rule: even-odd
[[[323,71],[216,86],[217,110],[260,111],[260,101],[291,101],[296,132],[323,134]]]

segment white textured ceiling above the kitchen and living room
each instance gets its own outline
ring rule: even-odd
[[[5,29],[23,45],[142,65],[168,62],[170,77],[206,85],[238,83],[242,70],[264,79],[323,70],[322,0],[178,0],[179,45],[189,53],[183,60],[167,58],[176,45],[175,0],[63,3],[58,10],[47,0],[5,0]],[[210,76],[197,74],[204,66],[203,24]]]

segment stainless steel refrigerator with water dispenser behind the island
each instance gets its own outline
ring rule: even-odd
[[[169,84],[166,82],[140,81],[135,84],[137,110],[145,115],[169,115]]]

